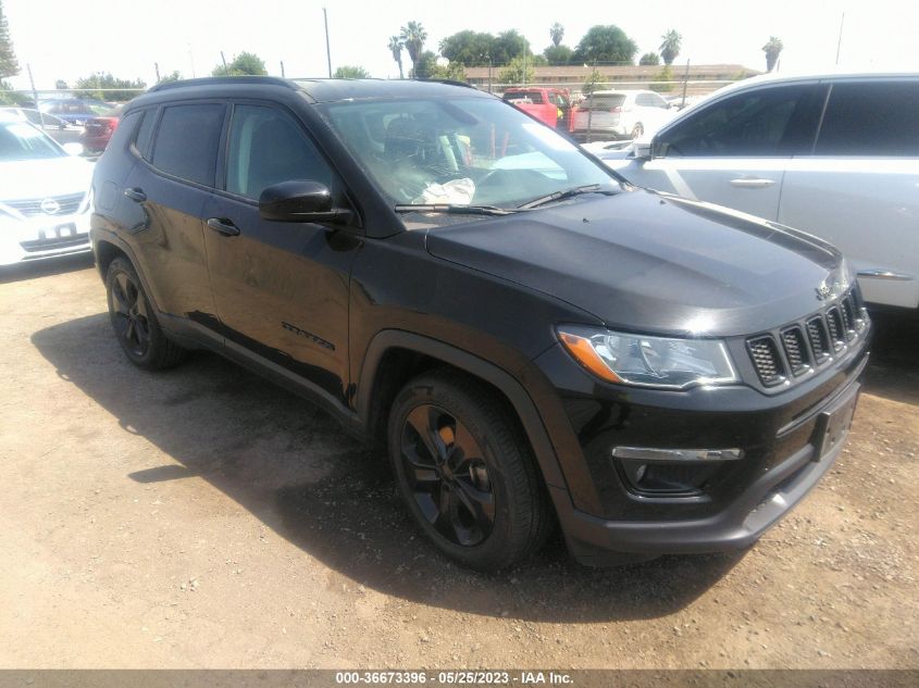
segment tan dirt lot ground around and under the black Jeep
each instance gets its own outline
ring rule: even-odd
[[[151,375],[87,260],[0,274],[0,667],[917,667],[919,320],[742,555],[506,575],[420,540],[383,456],[196,354]]]

